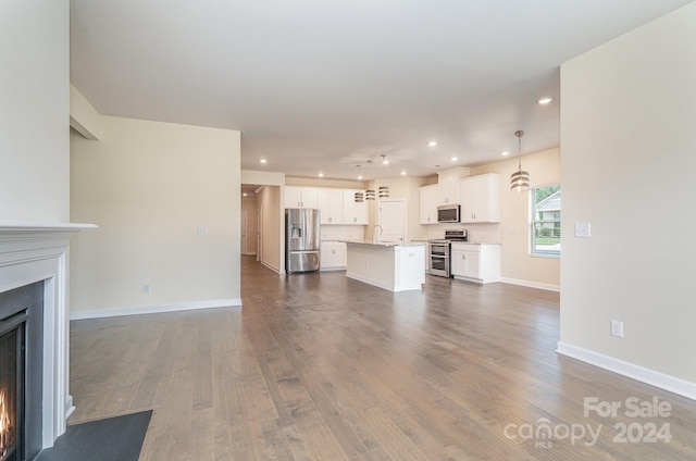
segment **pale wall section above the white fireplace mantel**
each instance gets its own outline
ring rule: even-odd
[[[70,2],[3,0],[0,220],[70,219]]]

